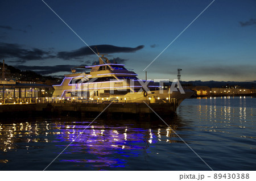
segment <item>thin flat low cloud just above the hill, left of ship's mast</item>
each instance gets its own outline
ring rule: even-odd
[[[18,65],[18,66],[15,66],[15,68],[18,68],[20,70],[32,70],[42,75],[48,75],[48,74],[58,73],[63,71],[71,71],[71,68],[76,66],[86,66],[86,65],[55,65],[55,66]]]

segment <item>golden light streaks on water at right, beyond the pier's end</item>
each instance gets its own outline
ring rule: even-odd
[[[206,132],[233,134],[230,132],[233,128],[252,128],[251,124],[255,120],[255,100],[253,97],[245,96],[197,99],[199,104],[196,105],[197,113],[193,121],[199,121],[198,127]],[[189,105],[185,104],[185,106]],[[180,108],[182,107],[181,104]],[[185,112],[180,116],[188,117]],[[243,135],[243,133],[240,134],[239,137]]]

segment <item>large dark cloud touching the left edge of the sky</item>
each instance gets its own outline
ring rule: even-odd
[[[27,49],[19,44],[0,43],[0,57],[15,58],[16,60],[13,62],[26,62],[30,60],[43,60],[52,56],[49,55],[49,52],[38,48]]]

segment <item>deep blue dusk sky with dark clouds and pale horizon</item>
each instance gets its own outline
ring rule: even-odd
[[[144,78],[144,69],[212,1],[45,2],[88,45]],[[64,75],[97,56],[40,0],[0,2],[0,59]],[[256,1],[216,0],[148,68],[148,78],[256,80]]]

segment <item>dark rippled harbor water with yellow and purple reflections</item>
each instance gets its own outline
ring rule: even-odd
[[[255,170],[256,98],[186,99],[163,120],[1,119],[0,170]]]

